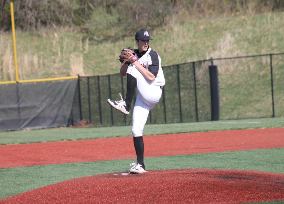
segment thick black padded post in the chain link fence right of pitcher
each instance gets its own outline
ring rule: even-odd
[[[218,68],[216,65],[209,65],[210,93],[211,93],[211,120],[220,120],[220,102],[218,87]]]

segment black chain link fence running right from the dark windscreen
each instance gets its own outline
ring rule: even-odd
[[[218,58],[163,67],[166,85],[147,123],[211,120],[209,65],[219,74],[220,120],[284,117],[284,53]],[[126,94],[119,74],[79,77],[72,121],[99,126],[131,125],[130,115],[112,109],[106,100]],[[133,105],[137,93],[133,99]]]

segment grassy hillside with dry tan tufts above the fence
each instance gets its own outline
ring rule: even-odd
[[[151,32],[163,66],[284,50],[284,12],[177,22]],[[136,47],[134,37],[97,42],[75,27],[16,30],[16,42],[22,80],[118,73],[120,50]],[[12,34],[0,33],[0,44],[0,81],[14,80]]]

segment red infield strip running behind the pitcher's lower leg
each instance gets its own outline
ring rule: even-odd
[[[143,136],[144,157],[280,148],[283,135],[284,128],[269,128]],[[130,158],[132,137],[0,146],[0,168]]]

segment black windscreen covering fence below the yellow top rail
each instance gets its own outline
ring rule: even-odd
[[[71,112],[76,112],[72,104],[77,81],[1,85],[0,131],[67,126]]]

